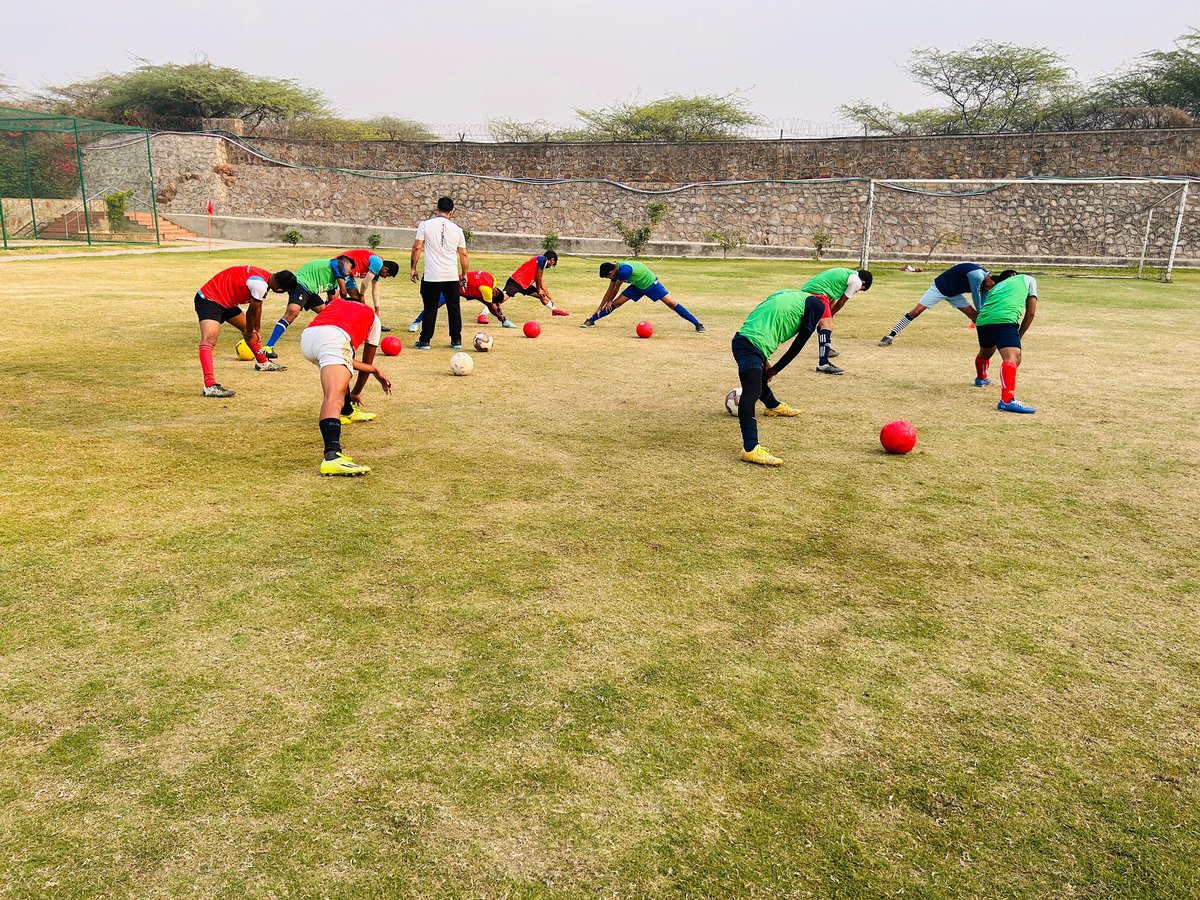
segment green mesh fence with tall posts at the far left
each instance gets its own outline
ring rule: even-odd
[[[0,239],[158,244],[150,132],[0,107]]]

